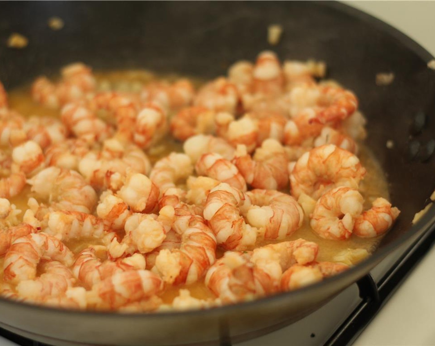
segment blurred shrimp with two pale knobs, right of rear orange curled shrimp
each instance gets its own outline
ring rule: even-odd
[[[233,147],[244,144],[248,152],[254,151],[258,141],[258,121],[256,119],[245,115],[234,120],[229,113],[219,113],[215,121],[218,135],[225,138]]]

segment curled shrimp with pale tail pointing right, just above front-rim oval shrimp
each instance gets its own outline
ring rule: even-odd
[[[102,254],[100,254],[102,252]],[[145,258],[141,254],[120,259],[115,262],[101,261],[97,255],[107,255],[104,246],[91,246],[79,253],[73,265],[74,277],[87,289],[110,276],[127,270],[145,269]]]

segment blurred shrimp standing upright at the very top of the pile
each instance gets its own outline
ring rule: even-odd
[[[253,77],[255,93],[278,95],[283,91],[284,77],[274,52],[266,50],[258,54]]]

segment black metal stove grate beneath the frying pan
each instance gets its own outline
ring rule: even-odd
[[[397,261],[386,271],[378,284],[376,284],[370,274],[360,279],[357,285],[362,301],[351,312],[345,322],[335,330],[334,334],[324,345],[336,346],[351,344],[408,277],[412,269],[414,269],[429,249],[431,249],[434,242],[435,229],[432,229],[412,243],[404,253],[398,256]],[[21,346],[55,346],[54,344],[39,343],[2,328],[0,328],[0,335]],[[315,335],[312,334],[311,337],[315,337]],[[222,335],[221,346],[231,346],[231,339]]]

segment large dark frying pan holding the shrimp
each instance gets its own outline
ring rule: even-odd
[[[73,61],[99,70],[139,67],[212,78],[225,74],[234,61],[254,60],[259,51],[270,49],[266,28],[281,24],[284,34],[273,47],[279,57],[325,60],[328,77],[358,95],[368,118],[366,143],[388,176],[392,204],[402,211],[370,258],[298,291],[206,311],[157,314],[74,312],[0,299],[5,329],[56,345],[205,345],[249,339],[314,311],[435,222],[430,208],[411,224],[435,187],[435,160],[409,153],[417,141],[424,152],[435,133],[435,71],[426,66],[433,57],[373,17],[325,2],[8,2],[0,8],[0,79],[7,88]],[[64,20],[63,30],[47,27],[54,15]],[[27,36],[28,47],[7,48],[11,32]],[[393,72],[394,82],[375,85],[379,72]],[[419,112],[427,123],[410,137]],[[394,148],[386,148],[388,140]]]

